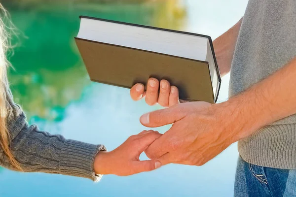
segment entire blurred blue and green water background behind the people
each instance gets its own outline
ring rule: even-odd
[[[134,102],[129,90],[90,82],[74,36],[79,15],[207,34],[214,40],[244,14],[248,0],[1,0],[17,36],[9,60],[15,102],[30,124],[109,150],[146,129],[139,117],[160,106]],[[219,101],[228,97],[222,78]],[[159,128],[165,132],[169,127]],[[100,183],[0,168],[1,197],[229,197],[238,153],[236,144],[201,167],[169,164],[129,177],[104,176]],[[146,156],[141,156],[146,159]]]

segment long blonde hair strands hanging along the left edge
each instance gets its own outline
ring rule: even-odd
[[[8,25],[4,23],[4,20],[8,21]],[[6,95],[5,95],[5,80],[6,80],[6,68],[9,65],[6,53],[10,47],[9,33],[6,31],[12,30],[13,26],[9,20],[7,11],[0,3],[0,147],[4,154],[7,156],[11,167],[21,170],[20,164],[13,157],[9,148],[10,135],[7,130],[7,107],[6,107]]]

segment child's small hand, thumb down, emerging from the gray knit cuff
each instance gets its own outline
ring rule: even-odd
[[[127,176],[160,167],[158,160],[140,161],[139,157],[161,135],[157,131],[142,131],[111,152],[99,152],[94,161],[95,173]]]

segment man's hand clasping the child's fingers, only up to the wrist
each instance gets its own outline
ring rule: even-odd
[[[150,159],[169,163],[203,165],[237,140],[227,113],[216,104],[187,102],[150,112],[140,121],[147,127],[173,124],[145,151]]]

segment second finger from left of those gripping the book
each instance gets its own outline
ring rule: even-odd
[[[159,81],[155,78],[149,78],[146,91],[146,103],[154,105],[158,101]]]

